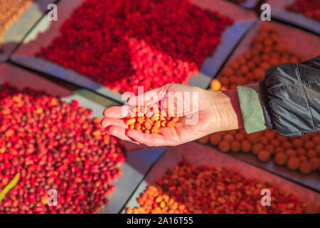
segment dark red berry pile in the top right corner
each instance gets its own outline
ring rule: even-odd
[[[290,6],[287,6],[289,11],[296,11],[304,14],[311,19],[320,21],[320,1],[319,0],[296,0]]]

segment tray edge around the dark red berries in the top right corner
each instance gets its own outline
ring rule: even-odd
[[[267,4],[271,6],[271,17],[279,21],[284,21],[320,35],[320,21],[311,19],[304,14],[294,11],[288,11],[287,6],[291,5],[294,0],[269,0]]]

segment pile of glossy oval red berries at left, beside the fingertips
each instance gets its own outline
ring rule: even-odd
[[[93,213],[107,204],[125,157],[100,118],[77,100],[8,85],[0,104],[0,213]]]

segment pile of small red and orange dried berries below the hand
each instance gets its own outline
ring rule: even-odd
[[[248,179],[221,167],[196,167],[182,161],[149,185],[139,199],[140,207],[127,214],[287,214],[317,213],[319,208],[276,185]],[[262,206],[262,190],[270,190],[270,206]]]

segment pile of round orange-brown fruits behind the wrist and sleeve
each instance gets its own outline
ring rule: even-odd
[[[276,28],[263,24],[252,38],[250,50],[230,62],[210,88],[228,90],[257,83],[265,78],[270,66],[301,61],[302,56],[289,50]],[[198,142],[210,142],[222,152],[252,152],[262,162],[274,160],[303,174],[320,171],[320,133],[286,138],[269,129],[250,135],[245,130],[233,130],[207,135]]]

